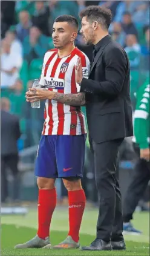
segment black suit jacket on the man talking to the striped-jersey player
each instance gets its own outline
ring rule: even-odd
[[[133,135],[129,61],[123,48],[105,36],[97,50],[89,79],[80,91],[86,93],[86,117],[91,139],[105,142]]]

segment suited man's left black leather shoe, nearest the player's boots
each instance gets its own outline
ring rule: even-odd
[[[90,246],[82,246],[80,249],[83,251],[111,251],[112,246],[110,242],[96,238]]]

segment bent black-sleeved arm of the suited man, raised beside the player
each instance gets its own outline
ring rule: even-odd
[[[114,48],[105,53],[104,59],[106,80],[99,82],[83,78],[79,80],[81,92],[117,96],[122,91],[127,70],[125,54],[119,48]]]

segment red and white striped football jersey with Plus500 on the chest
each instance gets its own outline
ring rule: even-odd
[[[74,65],[80,57],[83,77],[88,78],[90,61],[78,48],[74,48],[67,57],[58,57],[57,49],[47,51],[40,84],[48,90],[58,93],[78,93],[80,86],[76,83]],[[72,107],[56,100],[46,100],[44,110],[44,127],[42,135],[80,135],[86,133],[85,116],[80,107]]]

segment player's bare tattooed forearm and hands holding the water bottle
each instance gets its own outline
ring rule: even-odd
[[[26,93],[27,102],[37,100],[53,99],[71,106],[85,105],[85,93],[55,93],[46,89],[29,88]]]

